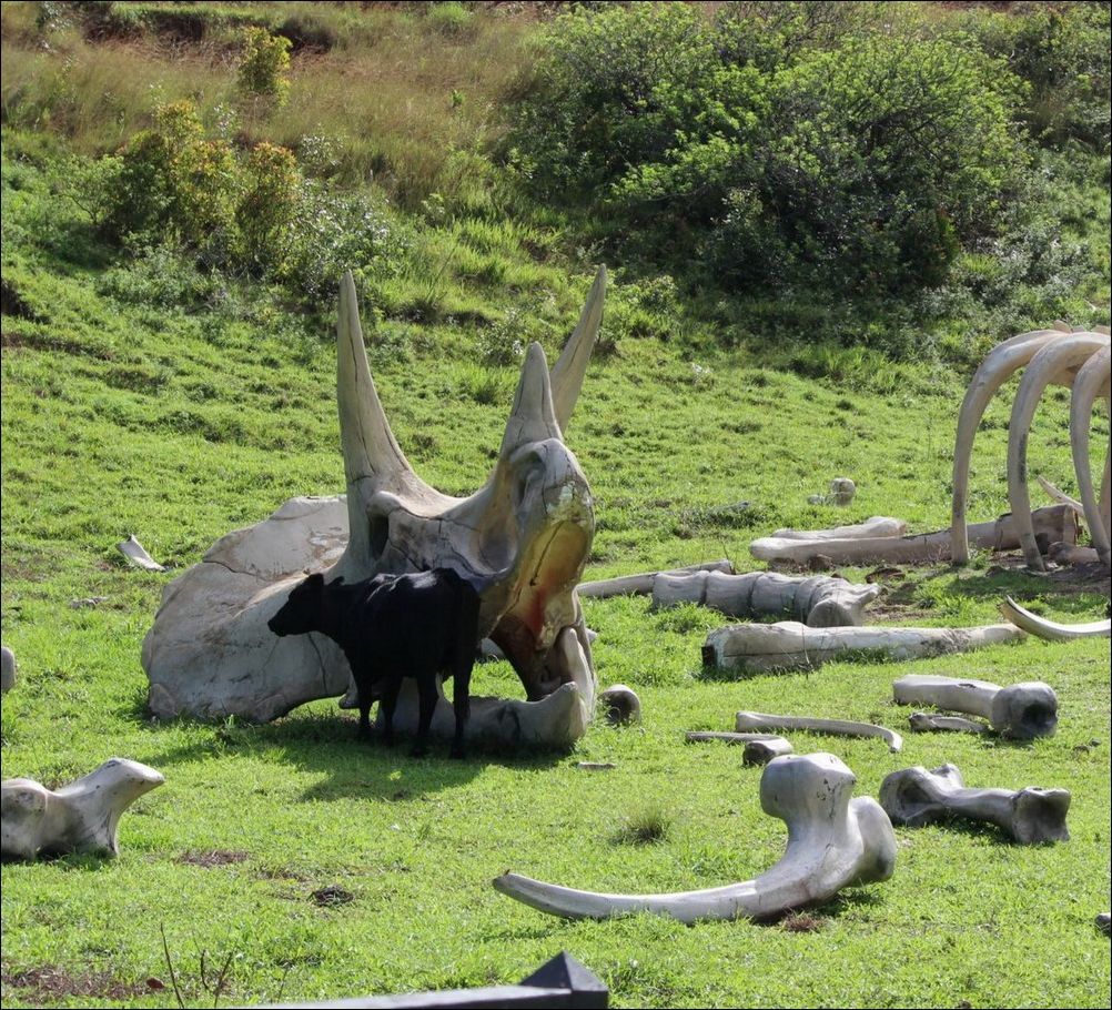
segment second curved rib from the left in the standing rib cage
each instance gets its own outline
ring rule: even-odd
[[[1039,572],[1045,571],[1046,565],[1035,542],[1031,494],[1027,489],[1027,436],[1031,433],[1031,420],[1046,386],[1052,382],[1068,382],[1073,369],[1108,346],[1109,338],[1103,334],[1078,333],[1060,337],[1031,359],[1015,394],[1007,428],[1007,499],[1023,556],[1027,565]]]

